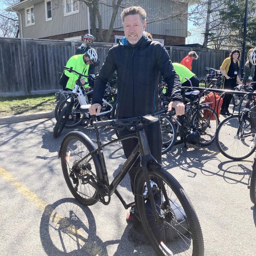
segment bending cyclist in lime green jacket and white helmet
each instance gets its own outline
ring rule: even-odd
[[[90,64],[94,63],[95,61],[97,61],[97,53],[95,49],[91,48],[85,54],[78,54],[70,57],[66,64],[66,67],[72,67],[73,70],[84,75],[88,75]],[[65,70],[60,78],[59,83],[63,86],[64,90],[73,90],[77,79],[77,74]],[[82,85],[84,85],[87,82],[87,78],[82,78],[80,82]],[[88,84],[86,84],[84,88],[87,91],[89,91],[90,89]]]

